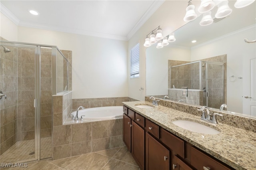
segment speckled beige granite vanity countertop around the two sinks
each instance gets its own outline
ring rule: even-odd
[[[147,101],[122,102],[136,113],[176,134],[183,140],[200,148],[236,170],[256,170],[256,133],[241,128],[218,123],[201,121],[200,117],[177,111],[161,105],[150,109],[136,105],[152,105]],[[219,134],[202,134],[180,128],[172,123],[175,120],[190,120],[219,130]],[[218,117],[217,117],[218,120]]]

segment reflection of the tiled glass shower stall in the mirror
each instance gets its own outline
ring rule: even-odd
[[[170,100],[220,109],[225,101],[224,63],[194,61],[169,68]]]

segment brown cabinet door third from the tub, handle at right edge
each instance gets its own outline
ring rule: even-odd
[[[169,170],[169,158],[169,150],[146,133],[146,170]]]

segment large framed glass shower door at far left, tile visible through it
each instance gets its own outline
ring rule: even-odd
[[[37,160],[36,138],[36,46],[2,43],[0,90],[1,163]],[[40,105],[39,105],[40,106]]]

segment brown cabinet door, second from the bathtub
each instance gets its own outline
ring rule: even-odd
[[[144,170],[144,129],[132,121],[132,156]]]

